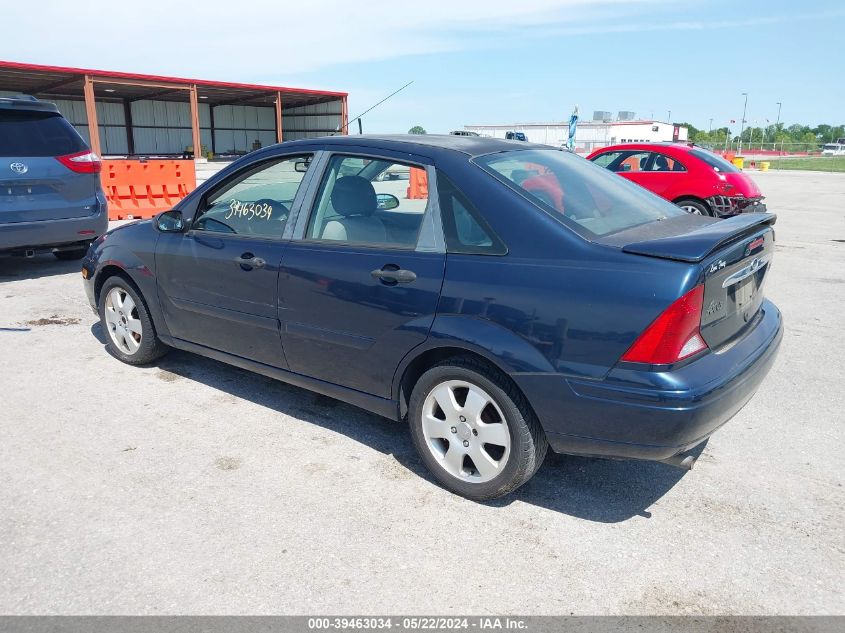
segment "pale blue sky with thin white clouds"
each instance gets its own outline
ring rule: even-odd
[[[4,33],[0,58],[334,88],[350,93],[353,116],[413,80],[364,118],[365,132],[563,120],[575,104],[586,117],[671,110],[674,121],[720,127],[739,120],[742,92],[752,123],[774,122],[778,101],[787,123],[845,123],[841,0],[90,5],[8,7],[18,28]],[[89,20],[96,35],[81,36]]]

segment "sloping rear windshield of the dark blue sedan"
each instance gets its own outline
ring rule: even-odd
[[[475,159],[588,239],[683,215],[625,178],[560,150],[516,150]]]

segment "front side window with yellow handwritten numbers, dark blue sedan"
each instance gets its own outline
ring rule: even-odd
[[[310,161],[310,154],[288,156],[238,174],[206,198],[192,228],[281,238]]]

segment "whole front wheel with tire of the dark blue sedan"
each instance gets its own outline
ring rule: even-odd
[[[100,290],[100,322],[109,351],[124,363],[143,365],[167,353],[144,299],[123,277],[109,277]]]

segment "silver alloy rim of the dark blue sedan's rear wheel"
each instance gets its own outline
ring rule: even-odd
[[[484,483],[501,473],[511,449],[499,405],[478,385],[447,380],[432,389],[422,410],[426,448],[447,473]]]

